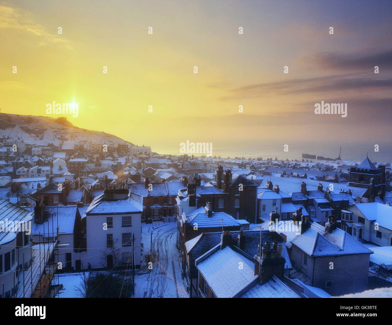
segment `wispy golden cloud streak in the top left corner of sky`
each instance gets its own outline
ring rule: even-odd
[[[15,29],[21,32],[34,34],[39,38],[40,46],[46,44],[57,44],[72,49],[71,42],[62,35],[48,33],[43,25],[37,24],[29,13],[19,9],[0,5],[0,29]]]

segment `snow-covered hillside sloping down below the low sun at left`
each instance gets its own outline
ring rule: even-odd
[[[0,137],[20,138],[24,143],[47,145],[48,143],[93,142],[93,143],[133,143],[124,141],[113,134],[91,131],[74,126],[65,118],[0,114]]]

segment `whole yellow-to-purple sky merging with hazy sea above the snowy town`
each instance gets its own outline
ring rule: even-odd
[[[391,30],[390,1],[0,1],[0,108],[78,103],[74,125],[171,154],[390,143]]]

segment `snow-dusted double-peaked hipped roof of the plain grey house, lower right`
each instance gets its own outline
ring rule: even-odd
[[[335,228],[331,233],[327,233],[325,227],[316,222],[313,222],[303,234],[295,236],[291,243],[309,256],[372,253],[347,232]]]

